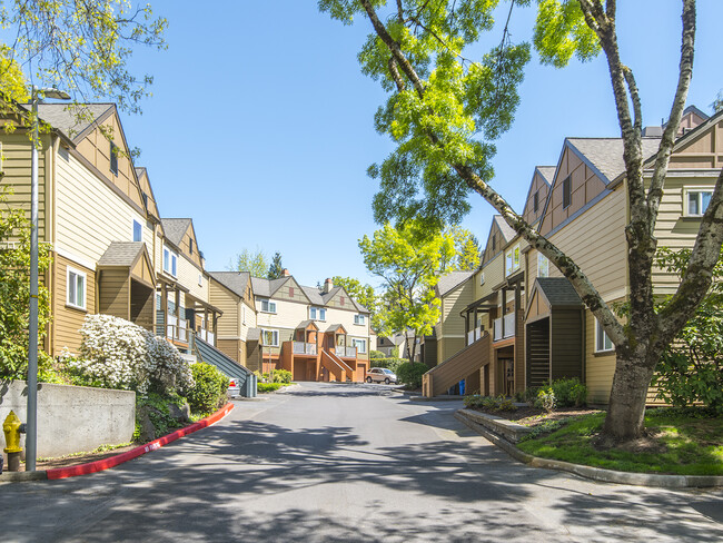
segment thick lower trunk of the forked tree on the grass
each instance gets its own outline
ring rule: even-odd
[[[655,365],[650,364],[648,359],[650,355],[637,353],[618,352],[616,355],[613,388],[604,426],[604,435],[613,442],[635,440],[643,433],[647,388],[655,369]]]

